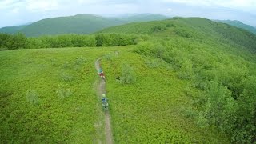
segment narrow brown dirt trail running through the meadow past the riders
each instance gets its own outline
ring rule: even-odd
[[[100,68],[100,58],[97,59],[97,61],[95,62],[95,68],[98,72],[99,68]],[[104,80],[100,80],[100,82],[98,83],[98,94],[100,95],[100,98],[102,98],[102,94],[106,94],[106,83]],[[106,95],[107,96],[107,95]],[[105,134],[106,134],[106,143],[107,144],[112,144],[113,143],[113,138],[112,138],[112,130],[111,130],[111,123],[110,123],[110,113],[109,111],[106,111],[105,114]]]

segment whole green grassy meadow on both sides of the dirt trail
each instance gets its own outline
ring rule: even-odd
[[[115,142],[225,143],[182,114],[191,102],[182,90],[186,82],[165,62],[134,54],[133,47],[2,51],[1,142],[105,142],[94,61],[106,56]],[[124,65],[134,71],[134,84],[116,79]]]

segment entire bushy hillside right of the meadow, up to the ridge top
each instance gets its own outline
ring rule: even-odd
[[[256,35],[203,18],[137,22],[102,33],[109,31],[153,36],[135,52],[155,58],[150,66],[168,63],[166,69],[189,82],[184,93],[194,102],[185,115],[232,142],[255,142]]]

